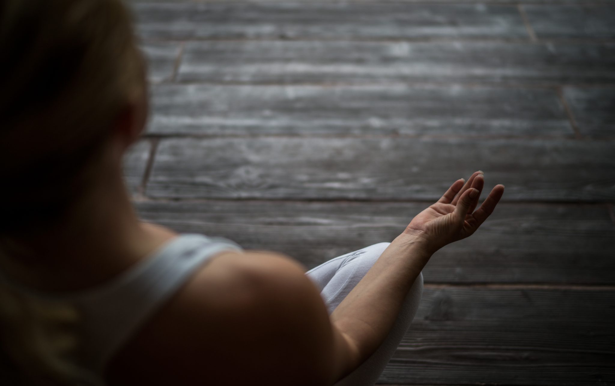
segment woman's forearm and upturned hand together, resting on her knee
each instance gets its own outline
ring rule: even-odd
[[[416,215],[331,313],[333,324],[358,353],[343,376],[367,360],[383,342],[431,255],[446,244],[472,235],[504,193],[504,185],[496,185],[474,211],[483,188],[483,174],[475,172],[466,185],[463,182],[454,182],[437,203]]]

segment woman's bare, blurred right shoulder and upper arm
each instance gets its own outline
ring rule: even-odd
[[[330,331],[304,326],[310,315],[327,315],[304,271],[277,252],[215,255],[117,353],[109,384],[300,385],[295,377],[306,372],[317,379],[328,358],[314,342]]]

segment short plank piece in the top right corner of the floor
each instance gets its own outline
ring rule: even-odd
[[[527,5],[528,21],[540,38],[615,38],[615,6]]]

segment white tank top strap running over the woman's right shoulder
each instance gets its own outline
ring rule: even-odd
[[[183,234],[116,283],[76,299],[89,320],[86,336],[90,342],[84,345],[95,348],[88,352],[93,370],[102,374],[122,343],[197,267],[228,249],[242,250],[228,239]]]

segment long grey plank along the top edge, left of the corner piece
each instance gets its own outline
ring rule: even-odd
[[[515,6],[184,2],[135,4],[133,10],[146,39],[528,38]]]

